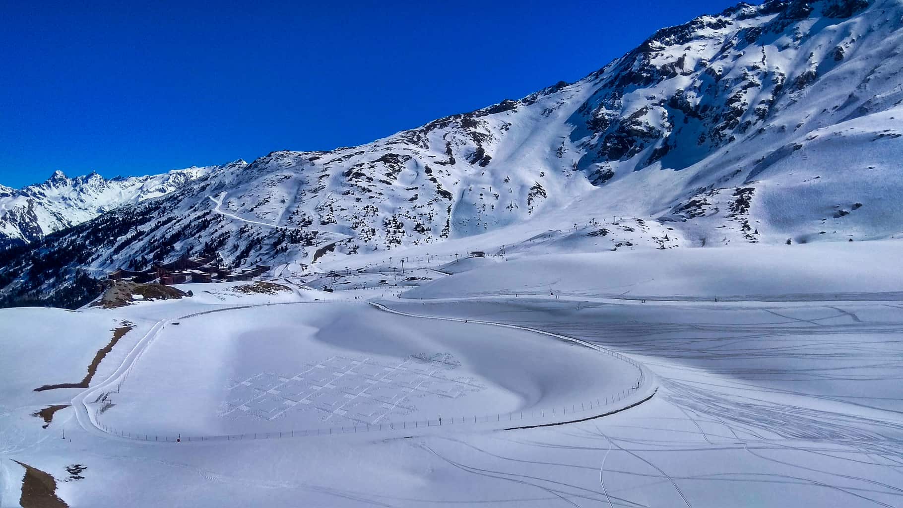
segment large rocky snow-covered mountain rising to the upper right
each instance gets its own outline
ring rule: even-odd
[[[358,147],[209,171],[55,236],[43,255],[99,274],[179,253],[329,263],[468,239],[517,253],[894,236],[901,26],[898,0],[740,4],[571,84]],[[58,287],[57,272],[6,257],[8,293]]]

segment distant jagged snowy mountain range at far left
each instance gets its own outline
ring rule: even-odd
[[[226,166],[246,164],[236,161]],[[68,178],[54,171],[46,181],[12,189],[0,185],[0,245],[29,243],[113,208],[163,196],[185,182],[225,166],[191,167],[163,174],[107,180],[96,172]]]

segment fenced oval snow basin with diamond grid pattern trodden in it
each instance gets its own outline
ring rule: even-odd
[[[440,416],[444,425],[533,425],[638,400],[636,366],[521,330],[454,322],[420,328],[419,320],[362,304],[224,316],[167,324],[126,383],[89,403],[103,411],[100,425],[151,440],[288,437],[434,426]],[[515,348],[527,354],[514,356]]]

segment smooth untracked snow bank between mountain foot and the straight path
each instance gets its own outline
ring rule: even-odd
[[[444,277],[403,298],[551,292],[630,300],[898,300],[901,252],[903,243],[885,241],[555,254]]]

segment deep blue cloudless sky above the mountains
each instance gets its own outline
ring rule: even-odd
[[[0,183],[367,143],[580,79],[733,4],[7,2]]]

